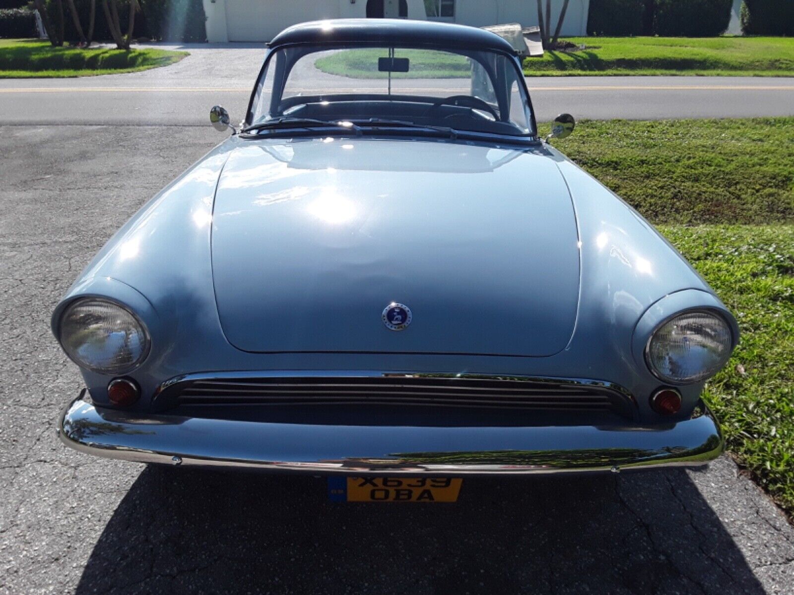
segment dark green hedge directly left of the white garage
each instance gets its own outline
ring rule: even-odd
[[[141,0],[148,35],[164,41],[206,41],[202,0]]]

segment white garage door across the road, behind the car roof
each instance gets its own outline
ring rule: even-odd
[[[303,21],[339,17],[338,0],[225,0],[229,41],[269,41]]]

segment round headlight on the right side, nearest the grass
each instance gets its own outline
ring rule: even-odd
[[[646,360],[657,378],[673,384],[699,382],[730,358],[733,338],[722,317],[707,312],[680,314],[653,332]]]

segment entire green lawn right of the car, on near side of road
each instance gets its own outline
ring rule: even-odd
[[[794,118],[582,121],[553,143],[659,225],[737,317],[741,343],[705,397],[734,457],[794,514]]]

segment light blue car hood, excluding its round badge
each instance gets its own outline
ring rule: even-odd
[[[553,355],[579,296],[569,191],[542,149],[262,140],[229,156],[212,267],[244,351]],[[388,329],[392,301],[410,325]]]

